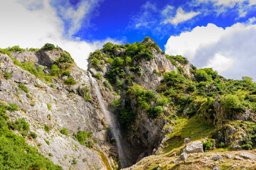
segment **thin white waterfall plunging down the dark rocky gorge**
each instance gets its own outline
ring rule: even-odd
[[[90,79],[92,80],[93,86],[95,86],[96,96],[97,96],[98,101],[100,102],[100,106],[105,115],[105,118],[107,119],[107,123],[109,123],[110,128],[112,130],[112,134],[114,135],[114,139],[116,140],[120,164],[121,164],[122,168],[127,167],[128,164],[124,157],[124,152],[122,149],[122,142],[121,142],[121,134],[120,134],[117,120],[114,118],[114,115],[112,115],[112,113],[110,113],[110,111],[107,111],[107,109],[105,108],[105,103],[102,101],[102,94],[100,93],[100,88],[97,84],[97,81],[92,77],[90,72],[88,72],[88,73],[89,73]]]

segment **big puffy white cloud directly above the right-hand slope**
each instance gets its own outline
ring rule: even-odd
[[[253,21],[254,19],[251,19]],[[199,68],[213,67],[227,78],[249,76],[256,80],[256,25],[235,23],[228,28],[214,24],[171,36],[165,45],[169,55],[183,55]]]

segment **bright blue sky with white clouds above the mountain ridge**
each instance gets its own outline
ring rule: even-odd
[[[105,42],[149,36],[169,55],[256,80],[256,0],[0,0],[0,47],[53,43],[86,69]]]

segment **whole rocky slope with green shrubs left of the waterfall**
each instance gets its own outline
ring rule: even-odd
[[[68,52],[14,46],[0,64],[0,169],[117,169],[90,79]]]

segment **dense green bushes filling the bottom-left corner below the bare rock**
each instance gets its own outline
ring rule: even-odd
[[[23,118],[15,122],[8,121],[8,109],[9,106],[0,104],[1,169],[62,169],[50,162],[50,159],[43,157],[35,147],[28,145],[23,137],[12,132],[12,129],[28,131],[29,125]],[[24,134],[23,132],[22,135]]]

